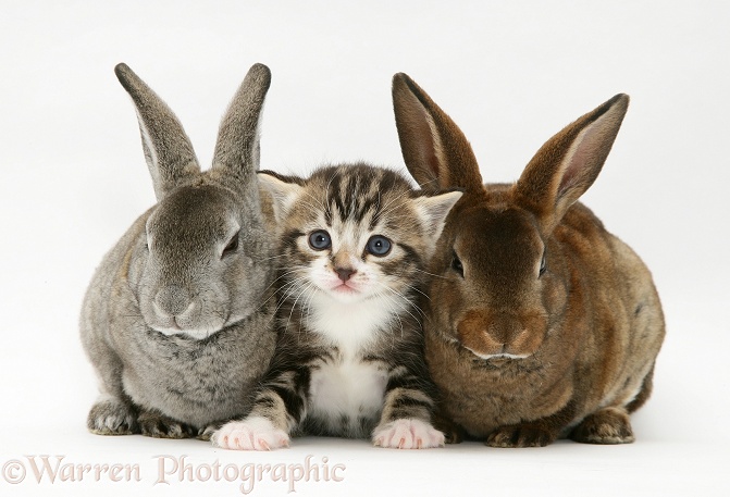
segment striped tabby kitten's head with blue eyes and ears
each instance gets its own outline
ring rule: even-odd
[[[319,294],[343,303],[405,298],[461,195],[422,197],[397,173],[364,164],[324,167],[307,181],[259,177],[284,225],[285,289],[302,303]]]

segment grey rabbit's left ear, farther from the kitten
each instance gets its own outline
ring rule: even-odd
[[[168,104],[139,76],[126,64],[116,65],[114,73],[135,104],[145,159],[160,200],[200,173],[193,145]]]

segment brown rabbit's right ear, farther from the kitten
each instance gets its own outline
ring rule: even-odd
[[[547,140],[515,186],[515,200],[534,212],[546,232],[593,184],[629,105],[619,94]]]

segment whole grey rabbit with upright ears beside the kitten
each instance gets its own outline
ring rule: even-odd
[[[270,199],[259,196],[259,121],[271,83],[255,64],[200,171],[170,108],[125,64],[157,204],[107,253],[84,299],[81,336],[101,395],[101,435],[208,438],[250,409],[274,351]]]

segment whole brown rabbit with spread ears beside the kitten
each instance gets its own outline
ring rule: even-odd
[[[428,190],[461,188],[430,271],[426,361],[451,442],[624,444],[665,335],[652,275],[578,198],[614,144],[617,95],[550,138],[514,185],[482,185],[458,126],[393,79],[403,156]],[[453,430],[451,430],[453,428]]]

